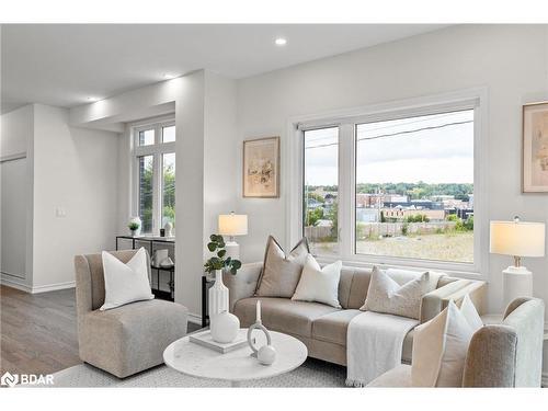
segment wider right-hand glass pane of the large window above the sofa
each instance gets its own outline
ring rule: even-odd
[[[359,254],[473,262],[473,110],[356,125]]]

